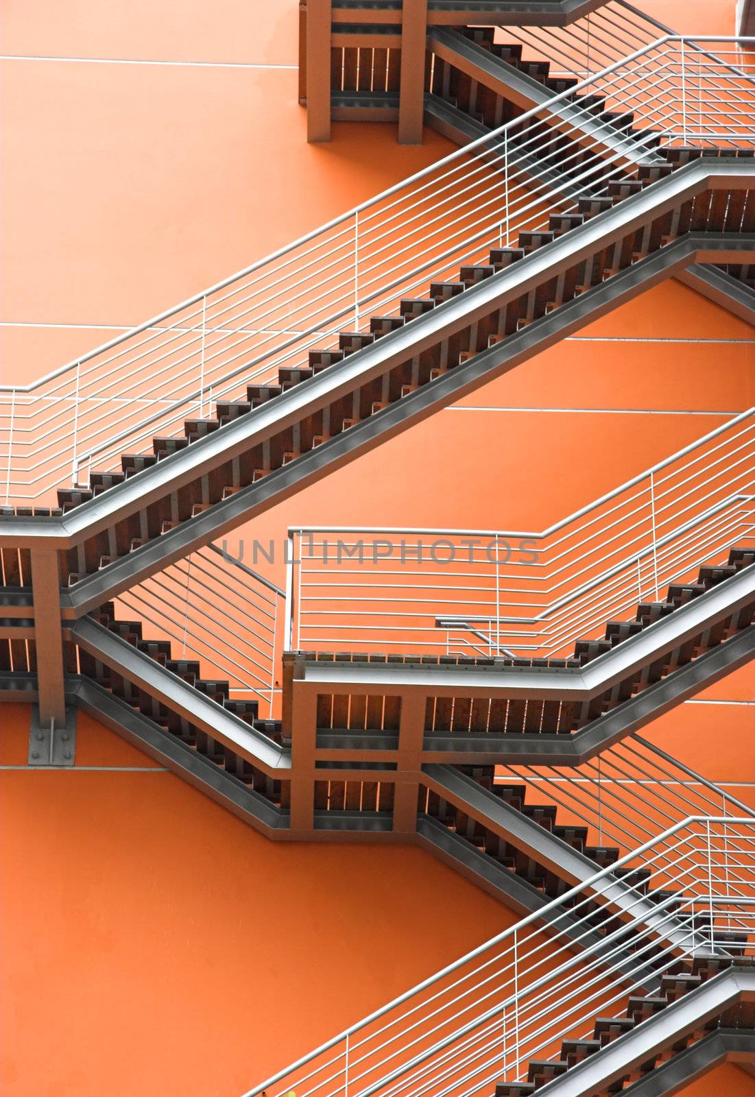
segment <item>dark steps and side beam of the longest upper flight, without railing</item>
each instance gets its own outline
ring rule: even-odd
[[[740,241],[747,239],[746,234],[755,228],[755,195],[746,189],[752,149],[747,152],[744,156],[743,150],[734,160],[729,157],[719,160],[699,149],[667,149],[664,165],[641,166],[633,179],[609,183],[605,196],[579,200],[577,214],[553,214],[548,230],[520,233],[516,247],[492,249],[486,264],[462,267],[458,281],[432,283],[426,297],[404,298],[398,315],[373,316],[369,333],[342,332],[338,351],[312,351],[306,364],[279,371],[278,384],[252,385],[245,402],[217,405],[214,418],[187,420],[183,437],[154,439],[151,455],[124,454],[122,471],[93,472],[90,488],[60,489],[60,506],[49,512],[50,517],[66,518],[80,510],[79,528],[83,534],[79,544],[66,554],[64,578],[75,585],[100,569],[115,567],[136,550],[165,538],[168,531],[176,532],[182,523],[201,517],[215,505],[232,500],[235,495],[239,495],[240,501],[245,489],[257,491],[260,480],[320,449],[323,461],[317,464],[322,467],[327,460],[327,443],[338,442],[339,436],[365,426],[373,418],[378,422],[381,412],[385,419],[393,409],[402,411],[405,400],[408,411],[410,397],[421,400],[421,391],[440,388],[436,384],[433,389],[433,382],[443,382],[447,375],[451,385],[444,387],[446,399],[458,397],[464,389],[453,385],[454,371],[461,381],[465,363],[480,361],[482,351],[487,350],[495,360],[499,355],[505,359],[509,341],[520,342],[530,326],[536,327],[538,321],[549,326],[557,323],[562,312],[590,290],[609,287],[613,279],[621,280],[634,267],[672,249],[674,241],[689,238],[689,234],[701,233],[705,238],[708,234],[723,233],[724,239],[729,234]],[[696,196],[684,201],[681,190],[676,204],[668,208],[664,184],[674,182],[672,177],[678,177],[680,183],[688,178],[691,181],[690,172],[695,172],[698,160],[701,165],[717,166],[711,177],[712,189],[703,184],[698,190],[696,185]],[[723,173],[721,189],[714,182],[719,171]],[[744,190],[732,189],[731,172],[743,180]],[[642,228],[620,231],[611,242],[601,238],[599,229],[609,226],[616,208],[629,214],[632,208],[639,211],[641,203],[644,210],[646,196],[652,210],[656,188],[663,212],[651,214]],[[595,233],[586,231],[591,229]],[[596,242],[588,244],[593,239]],[[576,250],[571,247],[572,240]],[[574,258],[571,262],[566,260],[563,268],[560,265],[559,274],[553,274],[545,260],[549,255],[554,260],[556,253],[561,256],[564,245]],[[553,251],[549,252],[549,248]],[[528,278],[530,272],[533,279]],[[507,293],[509,285],[511,291]],[[472,323],[464,313],[474,315]],[[443,318],[451,323],[443,325]],[[439,329],[429,341],[422,320],[432,321],[431,326]],[[420,343],[425,349],[419,354],[413,348],[415,331],[420,339],[425,336]],[[373,347],[380,349],[383,340],[386,354],[394,347],[396,353],[387,361],[382,354],[368,358]],[[358,369],[358,362],[367,364],[375,358],[382,359],[376,369]],[[354,361],[354,371],[345,369],[350,360]],[[367,383],[359,375],[363,372],[371,378]],[[491,375],[492,372],[481,372],[476,383]],[[348,381],[348,376],[353,380]],[[326,384],[318,384],[323,381]],[[300,391],[301,398],[292,400]],[[323,396],[318,395],[320,392]],[[294,407],[301,410],[293,410]],[[283,429],[273,425],[281,418],[290,423]],[[270,422],[270,428],[262,430],[267,437],[259,441],[260,430],[255,427],[262,428],[263,422]],[[374,437],[371,430],[368,433]],[[364,437],[363,431],[360,437]],[[195,451],[191,453],[193,460],[187,462],[191,451]],[[356,452],[354,446],[350,455]],[[188,466],[196,466],[198,472],[189,472]],[[162,486],[154,490],[148,484],[158,472]],[[132,484],[137,487],[137,475],[144,477],[139,486],[150,491],[154,501],[146,507],[136,507],[131,501],[120,507],[121,499],[135,502],[140,499],[138,490],[124,491]],[[171,479],[176,477],[173,487]],[[264,496],[270,506],[280,498],[280,493],[271,488]],[[95,500],[95,509],[91,509]],[[103,510],[105,500],[109,506]],[[128,513],[122,517],[123,510]],[[104,517],[109,511],[112,517]],[[7,508],[4,513],[11,517]],[[16,518],[22,516],[23,509],[20,514],[15,512]],[[88,534],[88,523],[92,522],[97,532]],[[161,555],[165,557],[165,553]],[[133,581],[134,570],[128,570]]]

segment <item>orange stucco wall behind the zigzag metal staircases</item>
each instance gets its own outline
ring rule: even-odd
[[[733,0],[641,7],[733,33]],[[402,148],[379,125],[307,145],[293,0],[4,0],[0,16],[3,382],[451,147],[428,132]],[[544,527],[755,404],[753,347],[743,323],[661,286],[273,508],[253,535]],[[413,848],[268,842],[87,716],[72,772],[24,768],[25,706],[0,706],[0,722],[3,1097],[230,1097],[512,920]],[[755,805],[753,732],[751,666],[647,734]],[[687,1092],[717,1090],[753,1083],[722,1067]]]

